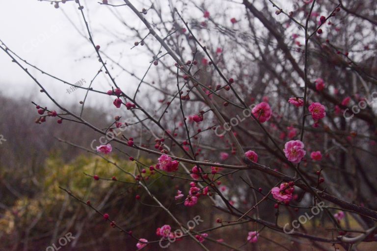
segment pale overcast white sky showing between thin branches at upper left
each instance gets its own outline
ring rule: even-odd
[[[123,1],[113,0],[114,3]],[[85,15],[90,21],[94,41],[101,45],[101,49],[119,59],[119,52],[122,51],[127,56],[121,62],[127,65],[127,69],[147,69],[149,59],[135,56],[139,48],[130,50],[133,42],[119,46],[106,46],[111,42],[111,36],[103,27],[109,27],[109,32],[117,32],[124,39],[128,39],[124,34],[125,29],[116,21],[109,11],[108,6],[100,6],[97,0],[81,0],[85,6]],[[42,70],[60,77],[71,83],[76,83],[80,79],[85,79],[86,84],[100,69],[101,64],[93,58],[83,58],[83,56],[93,56],[93,47],[83,38],[75,27],[69,23],[62,10],[78,25],[79,29],[87,36],[83,27],[82,17],[77,9],[77,4],[67,2],[60,4],[59,9],[53,5],[38,0],[0,0],[0,39],[19,56],[26,59]],[[118,8],[119,9],[119,8]],[[122,7],[123,18],[131,25],[138,25],[134,14],[127,7]],[[122,13],[122,14],[123,14]],[[80,15],[79,15],[80,14]],[[104,33],[106,32],[106,33]],[[122,34],[123,33],[123,34]],[[111,47],[111,48],[110,48]],[[115,50],[116,49],[116,50]],[[132,64],[130,64],[132,62]],[[46,96],[39,93],[39,88],[32,79],[2,50],[0,51],[0,92],[6,96],[18,97],[29,95],[33,100],[47,100]],[[61,102],[78,102],[81,100],[84,91],[76,90],[67,94],[63,83],[41,75],[35,69],[28,67],[33,75]],[[112,74],[118,75],[120,71]],[[136,80],[126,73],[122,73],[119,78],[127,81],[128,86],[135,86]],[[126,85],[123,85],[124,88]],[[94,82],[94,88],[108,90],[108,80],[101,75]],[[101,96],[103,97],[103,96]],[[96,103],[98,100],[94,100]],[[108,102],[108,100],[107,100]],[[91,102],[93,104],[93,100]]]

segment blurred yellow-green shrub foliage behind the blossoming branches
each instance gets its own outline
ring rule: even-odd
[[[117,163],[122,169],[134,174],[135,162],[116,156],[107,158]],[[150,165],[150,160],[141,160]],[[6,175],[5,170],[2,171]],[[148,175],[149,170],[147,171]],[[87,176],[87,175],[90,176]],[[71,162],[65,162],[58,153],[51,154],[44,167],[31,179],[36,186],[34,195],[25,195],[14,201],[13,206],[5,210],[4,217],[0,219],[0,232],[11,233],[18,225],[28,226],[36,217],[42,215],[43,219],[56,219],[63,202],[67,199],[67,193],[59,188],[66,188],[82,200],[90,197],[91,200],[100,200],[110,186],[130,186],[121,182],[94,180],[93,175],[111,179],[116,176],[118,180],[135,182],[135,179],[125,174],[116,166],[108,163],[99,156],[80,155]],[[132,185],[131,185],[132,186]],[[77,208],[78,204],[70,201],[70,207]]]

